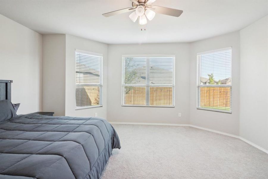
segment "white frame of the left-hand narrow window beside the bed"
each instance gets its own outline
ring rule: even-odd
[[[95,85],[95,84],[90,84],[90,83],[87,83],[86,85],[83,84],[76,84],[76,53],[84,53],[84,54],[88,54],[88,55],[93,55],[93,56],[98,56],[98,57],[101,57],[101,61],[100,61],[100,64],[101,64],[101,67],[100,67],[100,84],[98,85]],[[75,104],[74,104],[74,107],[75,107],[75,110],[79,110],[79,109],[88,109],[88,108],[95,108],[95,107],[103,107],[103,104],[102,104],[102,96],[103,96],[103,54],[101,53],[94,53],[94,52],[89,52],[89,51],[84,51],[84,50],[78,50],[78,49],[75,49],[75,60],[74,60],[74,83],[75,83],[75,92],[74,92],[74,96],[75,96]],[[83,107],[77,107],[76,106],[76,87],[77,86],[99,86],[100,87],[100,104],[99,105],[91,105],[91,106],[83,106]]]

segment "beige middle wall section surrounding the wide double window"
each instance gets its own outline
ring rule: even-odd
[[[122,55],[141,54],[175,54],[175,108],[121,106]],[[189,44],[109,45],[108,59],[108,121],[189,123]],[[181,117],[178,117],[179,112]]]

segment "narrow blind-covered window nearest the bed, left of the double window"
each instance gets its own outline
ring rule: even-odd
[[[76,50],[76,109],[102,105],[102,55]]]

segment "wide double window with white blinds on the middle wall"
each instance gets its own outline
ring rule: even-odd
[[[175,55],[123,55],[122,106],[174,107]]]

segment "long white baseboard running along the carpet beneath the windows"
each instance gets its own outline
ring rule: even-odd
[[[248,144],[252,145],[253,147],[256,147],[257,149],[259,149],[259,150],[261,150],[261,151],[263,151],[263,152],[268,154],[268,150],[256,145],[255,143],[252,143],[252,142],[248,141],[247,139],[244,139],[244,138],[242,138],[242,137],[240,137],[238,135],[228,134],[228,133],[225,133],[225,132],[220,132],[220,131],[213,130],[213,129],[208,129],[208,128],[205,128],[205,127],[195,126],[195,125],[192,125],[192,124],[136,123],[136,122],[110,122],[110,123],[111,124],[131,124],[131,125],[158,125],[158,126],[188,126],[188,127],[194,127],[194,128],[197,128],[197,129],[202,129],[202,130],[206,130],[206,131],[215,132],[215,133],[218,133],[218,134],[238,138],[238,139],[244,141],[245,143],[248,143]]]

